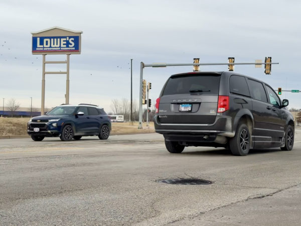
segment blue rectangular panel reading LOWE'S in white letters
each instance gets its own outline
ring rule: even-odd
[[[79,36],[33,37],[32,52],[79,52]]]

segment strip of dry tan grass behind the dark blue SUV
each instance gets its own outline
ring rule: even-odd
[[[29,118],[0,118],[0,136],[27,135],[27,122]],[[154,123],[142,125],[143,129],[138,130],[138,123],[112,123],[111,134],[128,134],[128,133],[152,133],[155,132]]]

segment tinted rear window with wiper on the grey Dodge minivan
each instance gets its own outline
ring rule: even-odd
[[[218,94],[220,75],[187,74],[169,78],[163,95],[182,93]]]

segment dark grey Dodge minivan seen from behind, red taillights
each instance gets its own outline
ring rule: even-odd
[[[293,148],[294,123],[265,82],[233,72],[172,75],[156,101],[155,130],[171,153],[187,146],[250,149]]]

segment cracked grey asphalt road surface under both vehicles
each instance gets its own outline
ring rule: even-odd
[[[301,130],[292,151],[166,151],[140,134],[0,140],[0,225],[299,225]],[[162,179],[200,178],[209,185]]]

